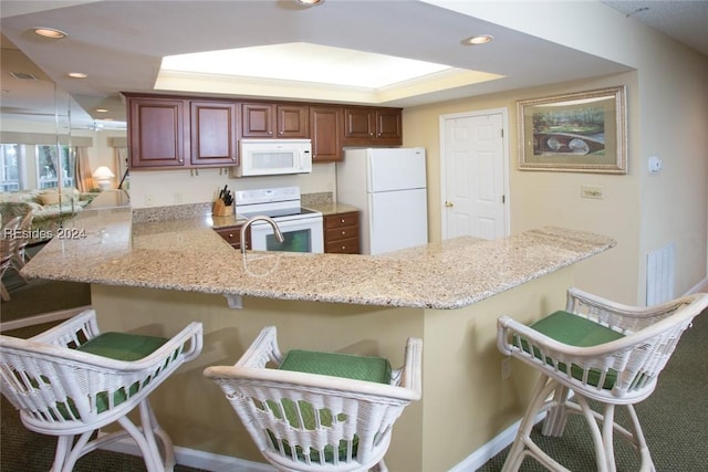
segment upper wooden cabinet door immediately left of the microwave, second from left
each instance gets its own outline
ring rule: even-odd
[[[238,104],[192,101],[190,108],[191,164],[236,166]]]

